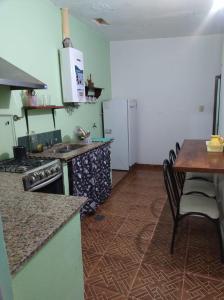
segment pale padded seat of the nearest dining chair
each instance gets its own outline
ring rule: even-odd
[[[180,199],[180,214],[203,213],[212,219],[219,218],[217,202],[202,195],[183,195]]]

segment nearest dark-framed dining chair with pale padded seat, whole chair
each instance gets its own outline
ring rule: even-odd
[[[174,221],[170,252],[174,252],[175,237],[179,222],[187,216],[204,217],[216,225],[219,241],[221,261],[223,262],[222,236],[220,230],[219,210],[216,199],[201,194],[181,195],[178,189],[173,168],[166,159],[163,162],[164,183]]]

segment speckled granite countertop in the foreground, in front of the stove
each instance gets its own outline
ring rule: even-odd
[[[22,175],[0,173],[0,212],[11,274],[15,274],[87,201],[26,192]]]

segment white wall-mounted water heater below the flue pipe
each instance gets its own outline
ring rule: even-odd
[[[84,63],[81,51],[68,47],[60,50],[63,101],[85,102]]]

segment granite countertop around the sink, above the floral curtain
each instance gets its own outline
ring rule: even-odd
[[[95,148],[98,148],[102,145],[108,144],[111,141],[108,142],[92,142],[91,144],[80,144],[82,147],[76,149],[76,150],[71,150],[67,153],[58,153],[57,151],[60,148],[66,147],[66,146],[72,146],[74,143],[61,143],[61,144],[55,144],[53,147],[50,149],[44,150],[43,152],[40,153],[29,153],[29,157],[39,157],[39,158],[58,158],[64,161],[68,161],[72,159],[73,157],[79,156],[85,152],[88,152],[90,150],[93,150]],[[78,143],[75,143],[77,145]]]

